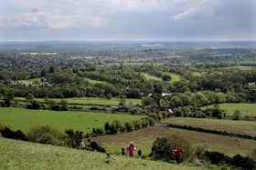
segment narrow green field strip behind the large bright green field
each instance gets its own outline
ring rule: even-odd
[[[24,97],[16,97],[17,100],[25,101]],[[35,98],[35,100],[39,102],[44,102],[43,98]],[[62,99],[59,98],[50,98],[49,100],[54,100],[56,102],[60,102]],[[84,105],[119,105],[120,98],[100,98],[100,97],[74,97],[74,98],[65,98],[69,104],[84,104]],[[141,105],[141,99],[136,98],[126,98],[125,105]]]

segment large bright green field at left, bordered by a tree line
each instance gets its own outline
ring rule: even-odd
[[[0,107],[0,124],[9,125],[13,129],[20,129],[24,132],[37,125],[49,125],[62,132],[67,128],[91,132],[93,127],[103,128],[107,121],[126,122],[142,117],[144,116]]]

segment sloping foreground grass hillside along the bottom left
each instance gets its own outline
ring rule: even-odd
[[[40,145],[0,137],[0,169],[200,169],[189,165],[174,165],[104,154],[53,145]]]

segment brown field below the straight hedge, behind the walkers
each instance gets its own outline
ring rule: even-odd
[[[181,135],[193,146],[206,145],[208,150],[224,152],[227,155],[247,155],[251,148],[256,145],[256,141],[253,140],[169,128],[166,125],[156,125],[131,133],[100,136],[94,140],[102,145],[107,145],[113,152],[121,150],[122,146],[127,145],[129,141],[133,141],[137,148],[143,149],[144,153],[149,154],[151,146],[157,137],[169,135]]]

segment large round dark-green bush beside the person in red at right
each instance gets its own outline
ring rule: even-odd
[[[184,154],[182,160],[187,159],[191,155],[191,145],[181,136],[171,135],[169,137],[157,138],[152,146],[152,156],[154,159],[162,159],[165,161],[174,160],[175,156],[171,150],[176,147],[181,147]]]

